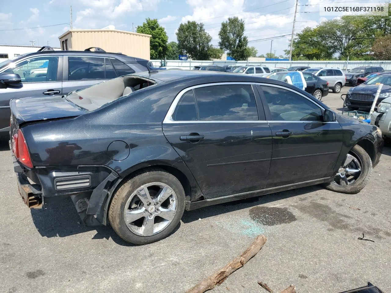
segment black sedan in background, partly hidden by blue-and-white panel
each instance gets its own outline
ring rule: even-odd
[[[270,79],[285,81],[287,73],[290,71],[275,72],[268,76]],[[322,100],[323,96],[328,95],[328,81],[313,75],[312,73],[303,71],[303,77],[307,86],[305,91],[313,95],[317,100]]]

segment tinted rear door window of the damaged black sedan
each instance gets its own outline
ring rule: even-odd
[[[228,84],[194,89],[199,120],[256,121],[258,111],[251,85]]]

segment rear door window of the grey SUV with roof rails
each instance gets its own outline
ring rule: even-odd
[[[104,58],[68,57],[68,80],[104,79]]]

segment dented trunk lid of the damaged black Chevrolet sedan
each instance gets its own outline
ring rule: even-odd
[[[12,99],[9,104],[18,123],[75,117],[87,112],[61,96]]]

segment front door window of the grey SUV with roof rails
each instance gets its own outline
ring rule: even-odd
[[[58,57],[32,58],[5,72],[20,75],[23,83],[57,81]]]

